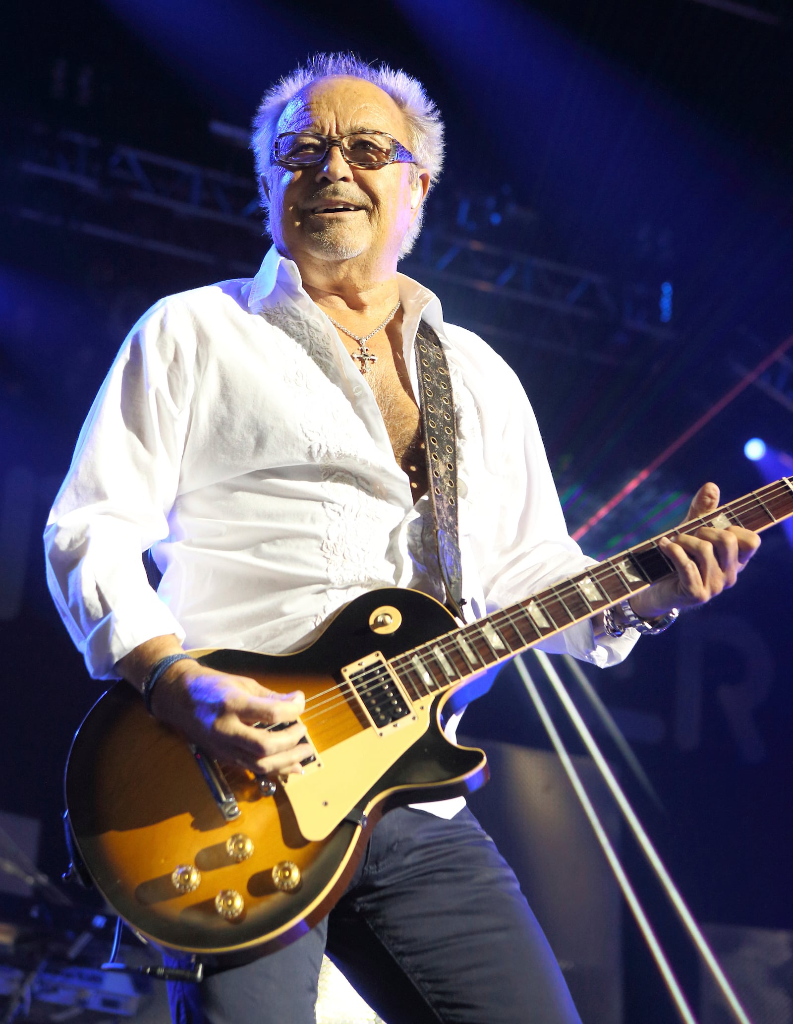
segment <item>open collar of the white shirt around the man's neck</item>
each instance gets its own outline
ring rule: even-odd
[[[412,327],[412,332],[408,328],[405,333],[414,333],[418,321],[424,318],[443,338],[443,310],[438,296],[404,273],[398,273],[397,281],[399,299],[404,309],[404,323]],[[275,246],[270,246],[262,265],[251,282],[248,308],[252,313],[260,313],[262,309],[274,305],[278,291],[285,293],[287,297],[299,305],[308,304],[316,308],[303,288],[303,279],[297,263],[282,256]]]

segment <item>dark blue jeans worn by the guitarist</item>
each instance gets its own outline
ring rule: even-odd
[[[388,1024],[580,1024],[506,862],[466,808],[386,814],[313,931],[245,967],[172,984],[175,1024],[314,1024],[322,952]]]

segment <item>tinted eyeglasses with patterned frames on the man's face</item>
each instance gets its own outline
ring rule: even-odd
[[[377,170],[386,164],[414,164],[415,158],[401,142],[384,131],[356,131],[350,135],[320,135],[313,131],[284,131],[272,143],[271,163],[281,167],[321,164],[332,145],[338,145],[350,167]]]

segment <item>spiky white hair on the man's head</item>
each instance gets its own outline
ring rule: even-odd
[[[254,151],[259,197],[268,232],[270,202],[261,178],[262,175],[267,177],[269,174],[270,154],[278,120],[291,100],[307,85],[323,78],[342,76],[371,82],[391,96],[405,119],[407,138],[400,141],[415,157],[417,166],[429,171],[430,187],[440,177],[443,167],[443,122],[438,108],[427,95],[422,83],[403,71],[394,71],[388,65],[368,65],[353,53],[316,53],[309,57],[305,66],[296,68],[291,75],[284,75],[275,85],[270,86],[254,118],[251,148]],[[415,168],[411,166],[410,169],[414,175]],[[424,204],[402,241],[400,258],[412,249],[422,229],[423,219]]]

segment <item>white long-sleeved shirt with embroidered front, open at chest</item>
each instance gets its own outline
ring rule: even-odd
[[[420,318],[452,379],[467,612],[478,617],[591,560],[569,538],[534,415],[480,338],[443,323],[399,275],[417,396]],[[45,531],[47,579],[97,679],[145,640],[282,652],[377,587],[442,599],[422,523],[375,396],[297,265],[272,248],[253,280],[157,303],[132,329],[83,426]],[[163,579],[155,593],[141,552]],[[546,649],[605,666],[635,640],[589,623]]]

